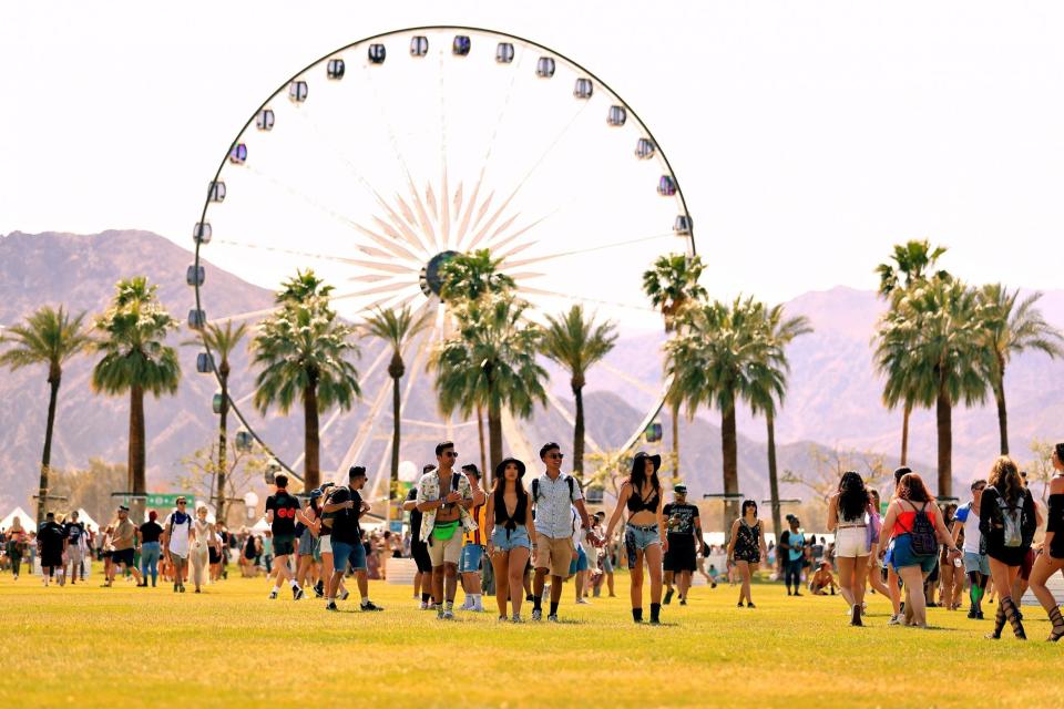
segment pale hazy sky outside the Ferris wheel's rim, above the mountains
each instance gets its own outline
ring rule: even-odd
[[[228,141],[288,75],[454,23],[556,48],[641,113],[715,296],[871,288],[924,236],[972,280],[1061,286],[1064,3],[154,4],[0,6],[0,233],[188,246]]]

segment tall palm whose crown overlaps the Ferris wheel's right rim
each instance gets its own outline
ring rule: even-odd
[[[698,279],[705,265],[698,256],[669,254],[654,261],[654,267],[643,274],[643,291],[651,304],[661,310],[665,332],[672,333],[682,322],[684,311],[708,297]],[[683,393],[675,386],[665,395],[665,403],[673,417],[673,476],[679,476],[679,407]]]

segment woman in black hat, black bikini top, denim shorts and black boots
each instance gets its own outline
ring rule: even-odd
[[[613,531],[627,508],[628,521],[624,527],[624,545],[628,554],[628,569],[632,578],[632,619],[643,621],[643,561],[651,572],[651,624],[661,623],[662,613],[662,554],[668,549],[665,538],[665,524],[662,518],[662,502],[665,495],[657,471],[662,466],[661,455],[648,455],[643,451],[632,461],[632,474],[621,486],[617,506],[610,517],[606,538],[613,538]]]

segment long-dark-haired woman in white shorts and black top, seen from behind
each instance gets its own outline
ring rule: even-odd
[[[864,481],[853,471],[842,473],[838,491],[828,503],[828,532],[835,532],[839,586],[850,609],[850,625],[861,623],[864,577],[868,573],[871,499]]]

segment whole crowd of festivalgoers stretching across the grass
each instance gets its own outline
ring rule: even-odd
[[[533,620],[557,621],[564,585],[572,580],[574,602],[589,603],[603,589],[614,596],[614,568],[630,569],[632,619],[661,624],[662,606],[674,595],[687,604],[696,574],[716,587],[723,577],[707,558],[697,505],[677,484],[673,501],[658,476],[659,455],[637,453],[620,487],[612,514],[590,514],[579,481],[562,472],[564,454],[556,443],[540,450],[542,472],[526,484],[528,466],[514,458],[494,470],[490,489],[474,464],[458,466],[454,444],[436,446],[436,462],[422,469],[402,508],[409,512],[406,535],[362,528],[370,504],[361,491],[366,469],[348,471],[346,484],[326,483],[305,500],[288,492],[285,475],[266,500],[264,534],[246,528],[229,533],[208,521],[206,506],[176,510],[160,523],[134,525],[122,505],[102,532],[83,525],[78,513],[57,518],[49,513],[35,531],[16,518],[2,533],[4,563],[17,579],[21,566],[39,558],[43,584],[85,580],[95,551],[104,563],[103,585],[129,576],[141,587],[156,586],[162,576],[184,593],[195,593],[225,578],[231,555],[244,576],[264,574],[273,580],[268,597],[289,587],[295,600],[308,589],[327,610],[348,598],[347,583],[359,594],[359,609],[380,612],[369,597],[369,579],[387,573],[392,557],[412,557],[413,593],[420,607],[441,620],[458,608],[484,612],[483,595],[494,595],[500,621],[522,623],[524,604]],[[1048,578],[1064,568],[1064,443],[1053,454],[1055,475],[1047,485],[1047,507],[1026,487],[1025,474],[1007,456],[998,459],[988,479],[971,485],[971,500],[958,506],[937,503],[922,477],[908,467],[894,472],[894,490],[886,506],[876,490],[856,472],[846,472],[828,503],[827,531],[833,541],[806,534],[800,521],[787,516],[787,530],[766,545],[765,525],[755,501],[744,501],[728,534],[727,582],[738,586],[738,607],[755,608],[753,579],[768,562],[773,577],[782,579],[788,596],[838,594],[851,625],[863,625],[867,593],[890,599],[890,625],[927,627],[927,608],[956,610],[968,590],[968,615],[983,618],[984,603],[996,595],[993,630],[1000,638],[1009,625],[1025,639],[1019,599],[1027,588],[1045,609],[1051,640],[1064,637],[1064,619],[1047,588]],[[1039,531],[1044,533],[1035,541]],[[620,534],[615,534],[620,532]],[[778,542],[776,544],[775,542]],[[139,559],[137,559],[139,554]],[[836,580],[836,576],[838,579]],[[649,586],[645,593],[644,586]],[[648,602],[648,603],[647,603]]]

